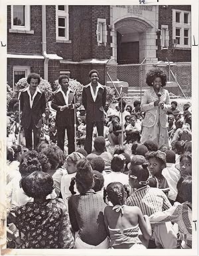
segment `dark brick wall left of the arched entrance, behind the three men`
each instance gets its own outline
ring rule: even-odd
[[[7,25],[11,28],[11,7],[8,9]],[[56,43],[56,7],[46,6],[46,47],[47,53],[55,53],[65,60],[83,61],[85,59],[109,59],[111,56],[111,37],[107,35],[107,46],[97,45],[96,29],[98,18],[106,19],[109,25],[109,6],[69,6],[69,40],[71,43]],[[34,34],[8,32],[8,53],[42,54],[42,7],[31,6],[31,30]],[[107,29],[108,30],[108,29]],[[31,66],[31,72],[43,77],[44,60],[8,59],[7,76],[13,83],[13,65]],[[70,70],[71,78],[83,84],[90,82],[88,72],[96,68],[100,72],[100,82],[105,82],[105,65],[97,64],[60,64],[49,61],[48,80],[53,83],[60,70]]]

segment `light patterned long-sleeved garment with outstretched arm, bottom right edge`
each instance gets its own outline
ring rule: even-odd
[[[184,235],[186,248],[192,248],[192,207],[188,201],[175,202],[170,209],[155,213],[149,217],[151,223],[172,221],[178,223],[180,233]],[[182,243],[183,247],[183,243]]]

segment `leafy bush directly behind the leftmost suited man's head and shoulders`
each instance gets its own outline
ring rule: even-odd
[[[28,86],[29,86],[29,84],[27,82],[27,78],[21,78],[17,82],[16,87],[15,87],[17,94],[19,93],[19,90],[27,88]],[[48,102],[52,98],[52,87],[50,85],[50,82],[40,78],[40,83],[38,84],[38,88],[44,90],[44,93],[46,96],[46,102]]]

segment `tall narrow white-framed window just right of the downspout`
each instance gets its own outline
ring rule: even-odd
[[[56,41],[63,43],[69,40],[68,5],[56,6]]]

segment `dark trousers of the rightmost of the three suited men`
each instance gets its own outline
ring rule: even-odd
[[[95,122],[86,122],[86,140],[84,143],[84,149],[88,154],[92,152],[92,138]],[[98,130],[98,136],[103,136],[103,121],[96,122],[96,127]]]

